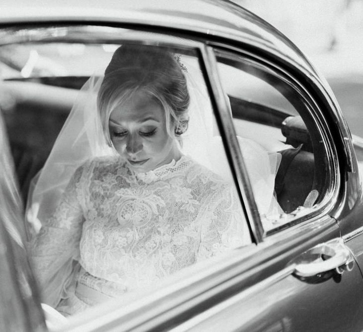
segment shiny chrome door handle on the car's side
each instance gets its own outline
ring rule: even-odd
[[[343,239],[336,238],[304,252],[294,263],[293,273],[296,276],[312,277],[330,270],[335,270],[339,274],[351,271],[354,257]]]

